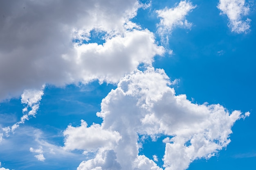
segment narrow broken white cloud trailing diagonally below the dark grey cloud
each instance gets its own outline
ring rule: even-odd
[[[11,127],[7,126],[2,128],[2,130],[5,132],[6,136],[9,136],[10,132],[14,132],[15,129],[17,129],[20,124],[24,124],[25,120],[29,120],[31,116],[36,116],[36,112],[39,109],[40,100],[43,96],[43,89],[36,90],[36,89],[26,89],[24,90],[23,94],[21,95],[21,103],[25,105],[25,107],[22,109],[23,116],[20,118],[19,122],[16,122]],[[0,140],[1,142],[1,140]]]

